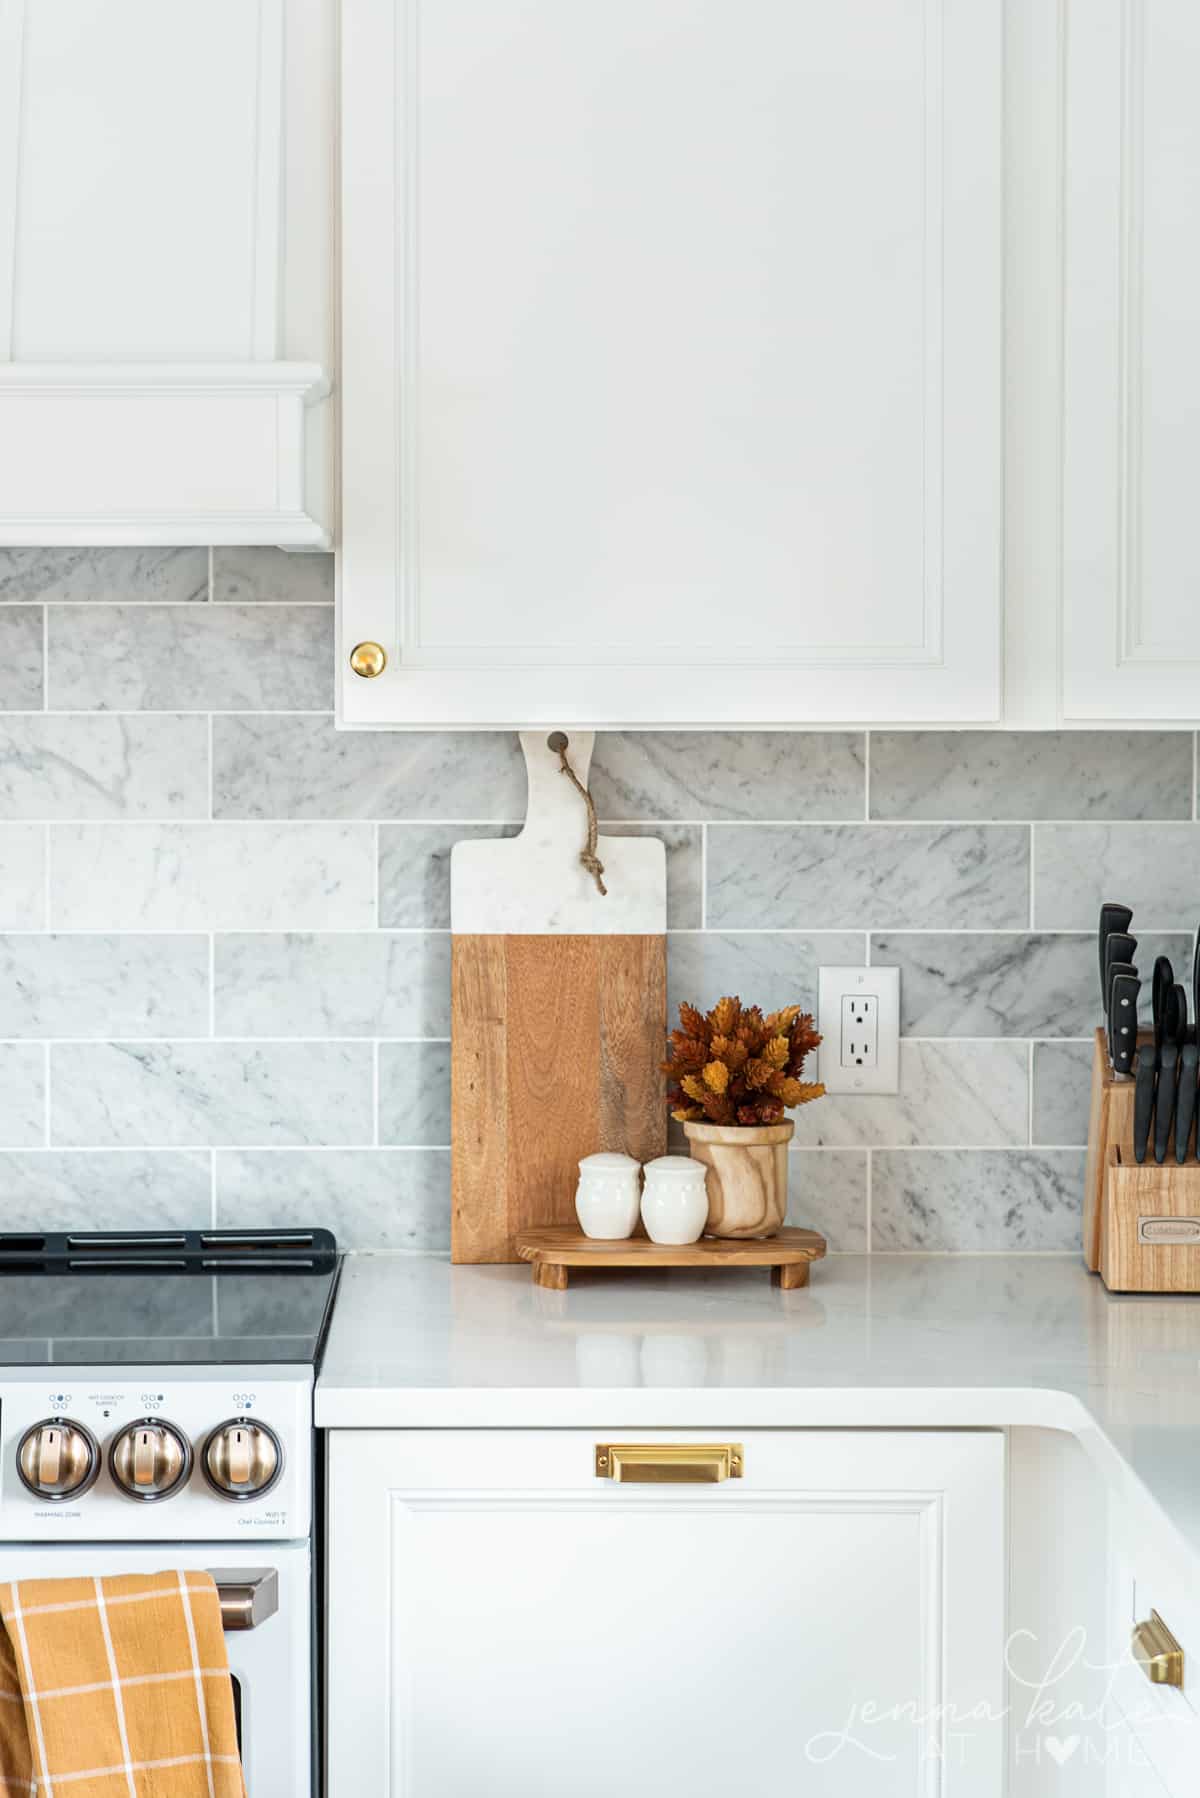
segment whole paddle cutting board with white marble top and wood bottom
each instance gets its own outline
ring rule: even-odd
[[[579,863],[585,802],[549,734],[522,732],[520,836],[450,858],[457,1262],[516,1260],[520,1230],[574,1224],[585,1154],[666,1149],[666,847],[601,836],[601,895]],[[587,784],[592,732],[569,737]]]

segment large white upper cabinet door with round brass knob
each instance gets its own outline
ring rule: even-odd
[[[344,723],[999,716],[1000,27],[344,0]]]

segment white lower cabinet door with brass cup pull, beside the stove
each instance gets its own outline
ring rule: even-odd
[[[1000,1433],[335,1431],[329,1798],[999,1798]]]

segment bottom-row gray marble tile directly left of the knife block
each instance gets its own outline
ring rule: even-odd
[[[1083,1151],[880,1153],[871,1167],[876,1250],[1063,1251],[1079,1246]]]

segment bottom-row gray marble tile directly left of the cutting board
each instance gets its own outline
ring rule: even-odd
[[[216,1183],[219,1224],[322,1223],[360,1253],[450,1248],[450,1156],[435,1149],[218,1154]]]

